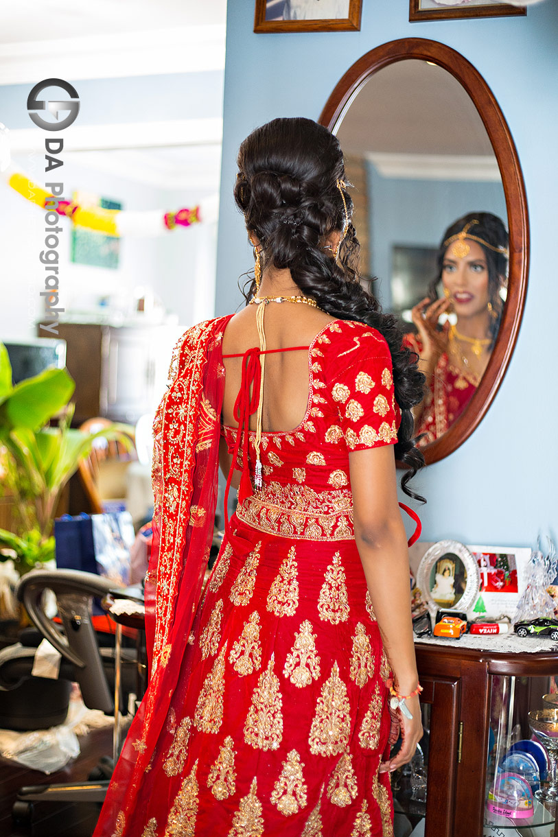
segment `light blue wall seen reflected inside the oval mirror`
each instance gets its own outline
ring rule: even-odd
[[[378,277],[374,292],[386,310],[391,305],[394,244],[437,248],[444,230],[468,212],[491,212],[508,225],[504,189],[499,182],[382,177],[372,162],[366,162],[366,180],[370,208],[369,273]],[[425,287],[425,296],[426,291]]]

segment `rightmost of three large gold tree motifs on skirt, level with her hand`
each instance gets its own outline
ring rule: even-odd
[[[349,743],[351,729],[347,686],[339,677],[337,660],[318,697],[308,743],[313,756],[337,756]]]

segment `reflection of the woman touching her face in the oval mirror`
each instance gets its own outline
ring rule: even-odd
[[[468,213],[447,228],[428,296],[412,309],[425,398],[414,409],[419,444],[459,418],[488,366],[504,309],[508,233],[492,213]],[[442,297],[438,298],[438,288]]]

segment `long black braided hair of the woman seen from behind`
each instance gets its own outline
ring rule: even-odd
[[[287,268],[302,294],[340,320],[364,322],[385,337],[393,362],[395,398],[401,423],[395,458],[406,465],[401,487],[424,501],[407,483],[424,465],[415,446],[411,407],[423,398],[424,376],[418,357],[402,347],[395,317],[359,283],[360,245],[351,223],[353,201],[344,188],[348,218],[338,181],[344,181],[343,152],[336,136],[310,119],[274,119],[256,128],[240,146],[235,202],[244,213],[246,229],[261,244],[263,265]],[[338,259],[324,249],[335,230],[344,233]],[[248,302],[256,293],[251,281]]]

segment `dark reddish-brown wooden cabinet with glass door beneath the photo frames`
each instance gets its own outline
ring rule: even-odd
[[[556,655],[426,641],[416,643],[416,660],[427,732],[411,768],[394,775],[395,837],[554,837],[551,804],[535,798],[532,813],[511,819],[487,802],[503,757],[532,736],[529,712],[545,706]]]

